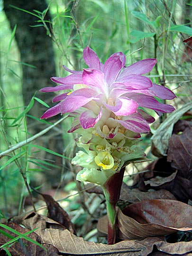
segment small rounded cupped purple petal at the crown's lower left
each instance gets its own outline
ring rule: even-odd
[[[101,119],[102,109],[100,110],[98,115],[95,115],[91,110],[84,111],[79,120],[82,128],[88,129],[94,127],[94,125]]]

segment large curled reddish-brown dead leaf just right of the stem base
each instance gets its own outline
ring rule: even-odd
[[[144,200],[118,209],[118,237],[144,239],[192,230],[192,206],[175,200]],[[107,218],[98,222],[100,234],[107,234]]]

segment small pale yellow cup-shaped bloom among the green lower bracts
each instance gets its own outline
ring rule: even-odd
[[[110,155],[109,151],[104,151],[98,153],[98,155],[95,156],[95,163],[98,166],[101,166],[103,170],[109,170],[113,167],[114,165],[114,159]]]

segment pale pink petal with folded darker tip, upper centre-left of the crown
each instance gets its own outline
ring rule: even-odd
[[[102,92],[108,96],[108,84],[104,81],[104,74],[96,69],[84,69],[82,73],[84,84],[91,86],[95,91]],[[99,90],[98,90],[99,89]]]

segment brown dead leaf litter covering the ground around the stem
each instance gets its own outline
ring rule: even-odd
[[[73,224],[66,211],[51,196],[42,193],[47,204],[47,217],[32,213],[13,219],[25,228],[14,222],[6,225],[12,225],[21,233],[38,228],[29,236],[35,236],[34,240],[45,245],[48,252],[40,252],[38,250],[42,250],[41,247],[25,241],[27,250],[31,250],[31,255],[36,256],[192,255],[191,122],[180,120],[174,125],[173,135],[168,140],[167,156],[158,158],[146,170],[147,172],[137,175],[133,187],[128,187],[125,183],[122,186],[119,206],[122,202],[125,206],[118,209],[119,242],[115,245],[89,242],[75,236]],[[89,186],[86,190],[102,194],[98,186]],[[103,236],[106,234],[106,226],[104,216],[98,222],[99,233]],[[6,232],[8,233],[7,230]],[[173,240],[174,234],[180,234],[183,240]],[[188,240],[183,234],[188,234]],[[2,232],[0,238],[2,245],[10,240]],[[170,238],[171,243],[168,242]],[[18,255],[27,256],[19,240],[9,247],[11,255],[17,255],[16,250]],[[1,248],[0,255],[3,255],[3,251]]]

